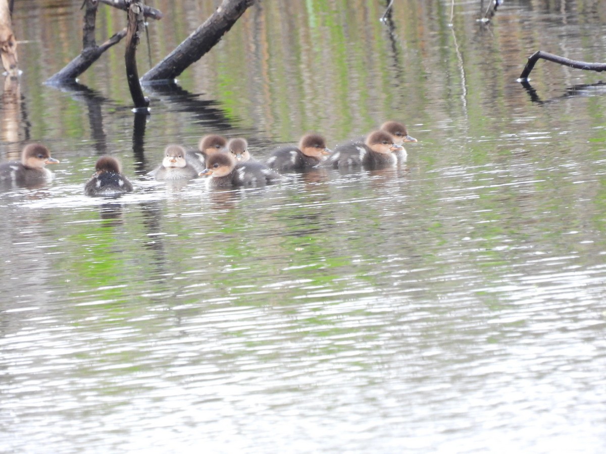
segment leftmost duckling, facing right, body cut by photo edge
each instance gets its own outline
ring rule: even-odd
[[[50,157],[50,151],[40,143],[29,143],[21,152],[21,161],[0,164],[0,182],[17,186],[37,186],[50,182],[53,174],[45,168],[47,164],[58,164]]]

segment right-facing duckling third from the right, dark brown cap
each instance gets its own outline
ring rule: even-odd
[[[282,146],[271,153],[267,165],[279,171],[310,169],[319,165],[325,154],[331,150],[326,147],[324,137],[319,134],[305,134],[298,146]]]

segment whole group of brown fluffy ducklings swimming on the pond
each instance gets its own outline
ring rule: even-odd
[[[329,150],[323,136],[305,134],[298,145],[282,146],[271,153],[265,163],[255,160],[248,151],[248,142],[240,137],[227,140],[217,134],[202,137],[198,150],[187,151],[181,145],[169,145],[162,163],[151,176],[156,180],[190,180],[210,177],[209,188],[264,186],[284,177],[280,172],[305,170],[320,165],[333,168],[364,166],[373,169],[393,166],[406,159],[404,142],[416,142],[404,124],[388,121],[379,130],[353,139]],[[0,182],[34,186],[48,182],[52,174],[45,166],[59,163],[48,149],[30,143],[22,151],[21,162],[0,164]],[[84,186],[87,196],[118,196],[133,191],[132,183],[122,174],[118,160],[102,156],[95,164],[95,174]]]

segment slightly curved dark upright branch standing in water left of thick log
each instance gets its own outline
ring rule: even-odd
[[[126,33],[126,50],[124,52],[124,63],[126,65],[126,77],[128,89],[133,98],[136,109],[146,108],[150,103],[143,95],[139,83],[139,71],[137,70],[136,52],[139,44],[139,36],[144,30],[143,6],[140,0],[132,1],[128,8],[128,27]]]

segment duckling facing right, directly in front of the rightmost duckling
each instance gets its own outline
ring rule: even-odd
[[[335,168],[363,165],[370,169],[396,165],[398,160],[393,152],[401,150],[402,146],[394,141],[390,133],[375,131],[368,134],[364,143],[337,146],[325,163]]]

